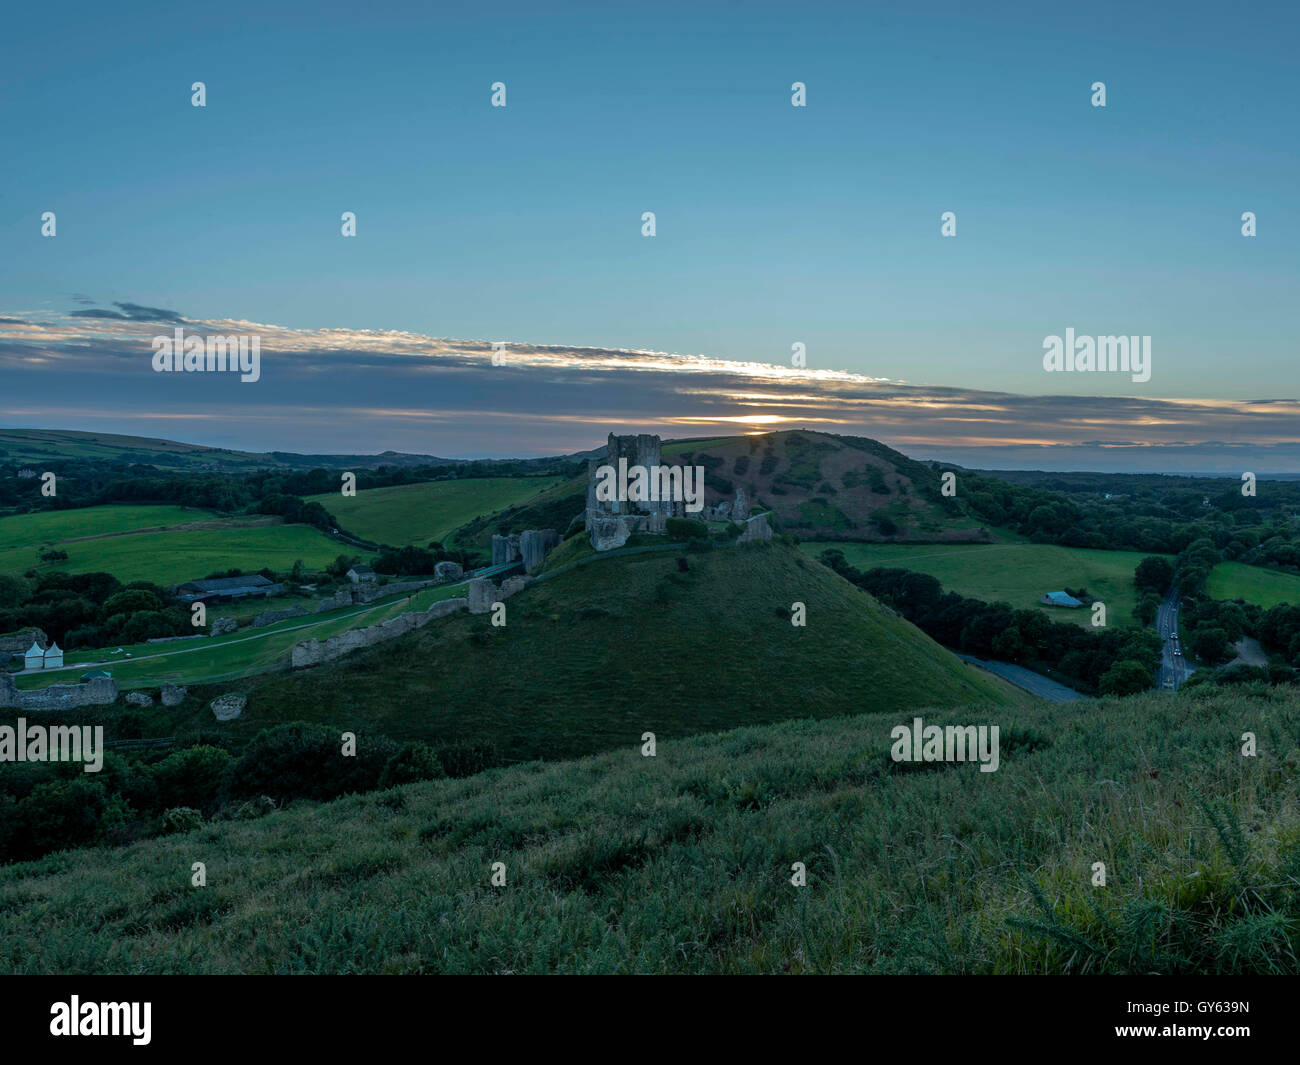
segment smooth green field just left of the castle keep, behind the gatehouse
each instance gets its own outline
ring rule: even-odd
[[[525,503],[559,481],[559,477],[467,477],[369,488],[356,495],[332,492],[308,499],[320,503],[343,529],[363,540],[422,547],[446,540],[480,515]]]

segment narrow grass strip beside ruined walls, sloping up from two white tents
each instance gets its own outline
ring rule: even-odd
[[[398,614],[428,610],[430,605],[441,599],[464,594],[463,585],[447,584],[426,588],[413,596],[403,596],[389,602],[348,606],[324,614],[287,618],[273,625],[243,628],[211,638],[77,649],[64,655],[65,668],[23,674],[16,683],[20,689],[74,684],[79,680],[81,674],[90,668],[108,670],[124,690],[156,688],[164,681],[198,684],[233,680],[287,667],[289,653],[294,644],[300,644],[304,640],[325,640],[347,632],[350,628],[386,622]],[[276,610],[287,602],[290,601],[270,599],[260,603],[260,609]],[[217,603],[212,607],[209,618],[220,618],[228,612],[230,611]],[[438,624],[438,622],[432,624]]]

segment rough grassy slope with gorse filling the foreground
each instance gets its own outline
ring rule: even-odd
[[[620,701],[640,731],[647,703]],[[10,865],[0,970],[1300,967],[1297,693],[926,715],[1000,724],[991,774],[900,771],[889,730],[909,717],[662,736],[654,758],[629,735],[577,762]]]

